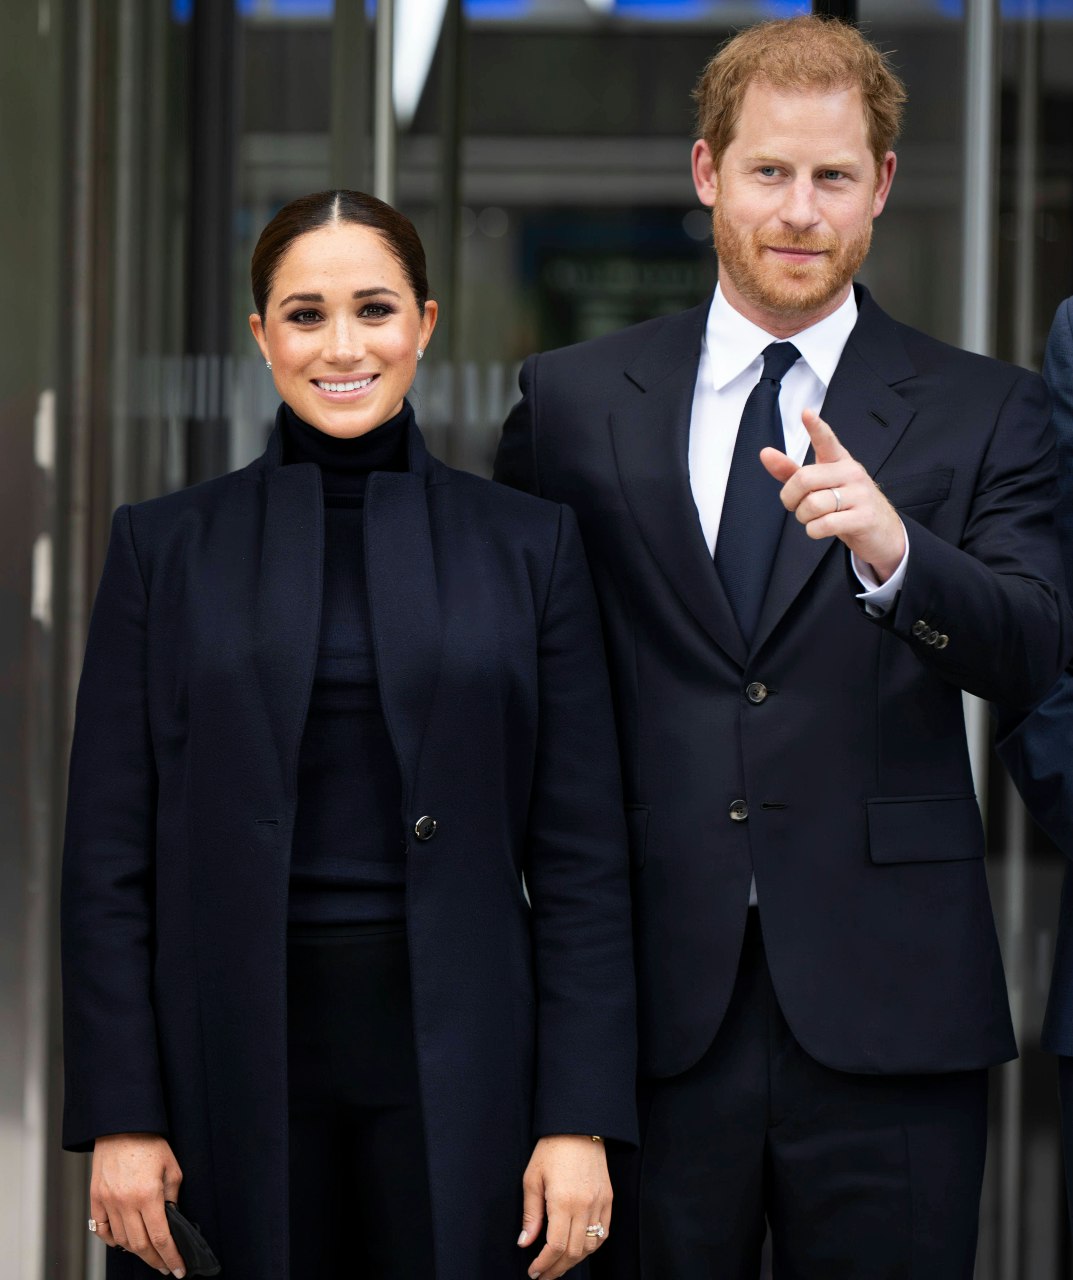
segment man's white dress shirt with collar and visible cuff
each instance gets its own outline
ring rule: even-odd
[[[841,360],[843,348],[855,324],[857,298],[850,289],[845,302],[836,311],[789,339],[802,353],[802,358],[782,379],[779,408],[782,415],[785,452],[794,462],[804,462],[811,443],[802,421],[802,412],[807,408],[819,412],[835,367]],[[689,484],[712,556],[720,531],[738,424],[741,421],[741,411],[745,408],[749,392],[761,380],[763,349],[773,340],[776,339],[770,333],[746,320],[740,311],[735,311],[723,297],[722,289],[716,285],[716,296],[712,298],[704,340],[700,346],[693,413],[689,420]],[[759,461],[757,466],[761,466]],[[772,480],[771,488],[775,498],[779,481]],[[804,531],[802,534],[804,536]],[[894,604],[894,598],[905,579],[908,558],[907,534],[901,563],[881,585],[867,564],[850,556],[853,571],[863,588],[857,598],[864,602],[864,608],[869,613],[886,613]],[[714,563],[712,572],[716,572]],[[749,905],[757,905],[755,879],[749,884]]]

